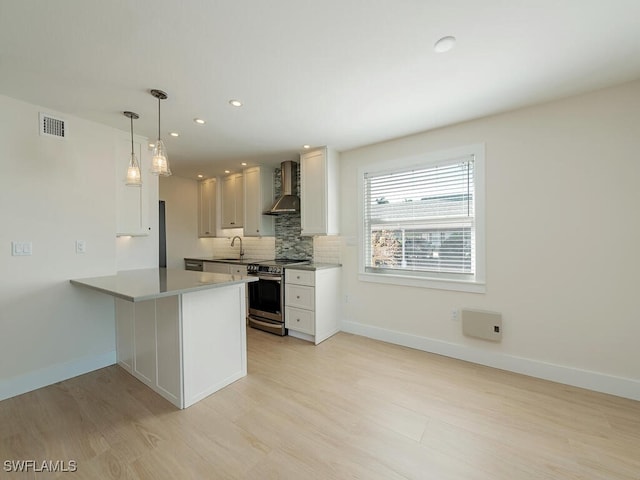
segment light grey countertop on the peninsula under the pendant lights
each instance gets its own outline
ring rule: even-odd
[[[148,268],[125,270],[103,277],[78,278],[71,280],[71,283],[130,302],[140,302],[257,280],[257,277],[244,275]]]

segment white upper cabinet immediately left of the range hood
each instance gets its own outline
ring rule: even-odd
[[[262,237],[274,234],[273,217],[263,215],[274,202],[273,168],[251,167],[244,177],[244,236]]]

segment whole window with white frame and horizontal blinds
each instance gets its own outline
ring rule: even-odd
[[[360,170],[361,279],[483,291],[483,151]]]

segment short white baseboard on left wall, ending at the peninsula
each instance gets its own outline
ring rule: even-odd
[[[22,395],[69,378],[98,370],[116,363],[116,352],[79,358],[70,362],[51,365],[34,372],[0,380],[0,400]]]

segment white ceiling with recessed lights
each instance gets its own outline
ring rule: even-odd
[[[187,177],[637,78],[639,0],[0,0],[0,94],[153,139],[164,90]]]

